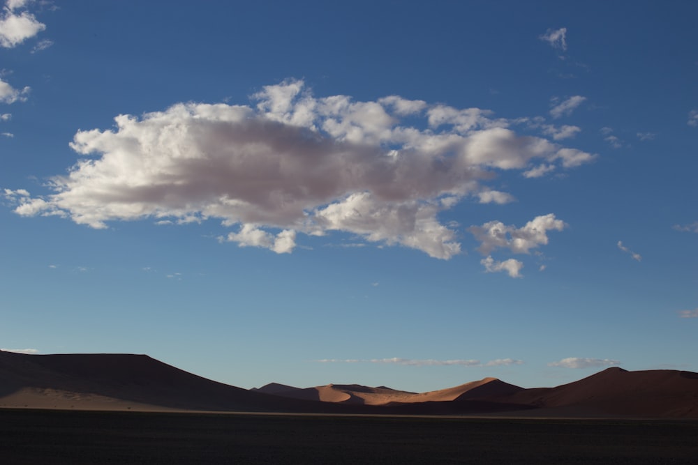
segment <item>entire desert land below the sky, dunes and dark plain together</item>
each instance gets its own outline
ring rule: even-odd
[[[689,464],[697,402],[698,374],[673,370],[246,390],[144,355],[0,352],[6,464]]]

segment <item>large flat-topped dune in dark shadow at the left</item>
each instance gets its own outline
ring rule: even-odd
[[[318,399],[327,400],[317,402],[228,386],[144,355],[27,355],[0,351],[0,407],[362,414],[468,413],[517,408],[474,401],[454,405],[453,409],[422,405],[412,410],[387,411],[363,402],[342,402],[340,397],[350,395],[331,386],[326,388],[318,391]]]

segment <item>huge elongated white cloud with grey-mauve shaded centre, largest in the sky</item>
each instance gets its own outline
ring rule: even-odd
[[[517,135],[484,109],[315,98],[300,80],[265,86],[252,100],[179,103],[119,115],[112,130],[80,130],[70,146],[84,157],[52,178],[52,194],[15,197],[15,212],[94,228],[216,218],[235,228],[221,241],[279,253],[295,247],[297,233],[345,231],[449,259],[461,244],[438,215],[466,197],[511,201],[487,185],[497,171],[542,164],[548,173],[595,156]]]

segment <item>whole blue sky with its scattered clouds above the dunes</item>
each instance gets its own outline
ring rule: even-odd
[[[697,16],[6,0],[0,346],[242,388],[698,372]]]

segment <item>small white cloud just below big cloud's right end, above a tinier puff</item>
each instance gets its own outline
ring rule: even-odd
[[[548,213],[533,218],[520,228],[490,221],[482,226],[471,226],[468,231],[480,241],[477,250],[482,254],[489,254],[500,247],[515,254],[528,254],[530,249],[548,243],[548,231],[562,231],[565,227],[567,224],[563,220],[555,218],[554,213]]]

